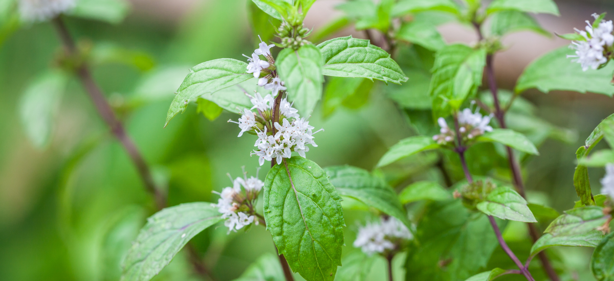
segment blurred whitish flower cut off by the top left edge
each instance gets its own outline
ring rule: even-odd
[[[20,0],[19,12],[25,21],[46,21],[74,8],[75,0]]]

